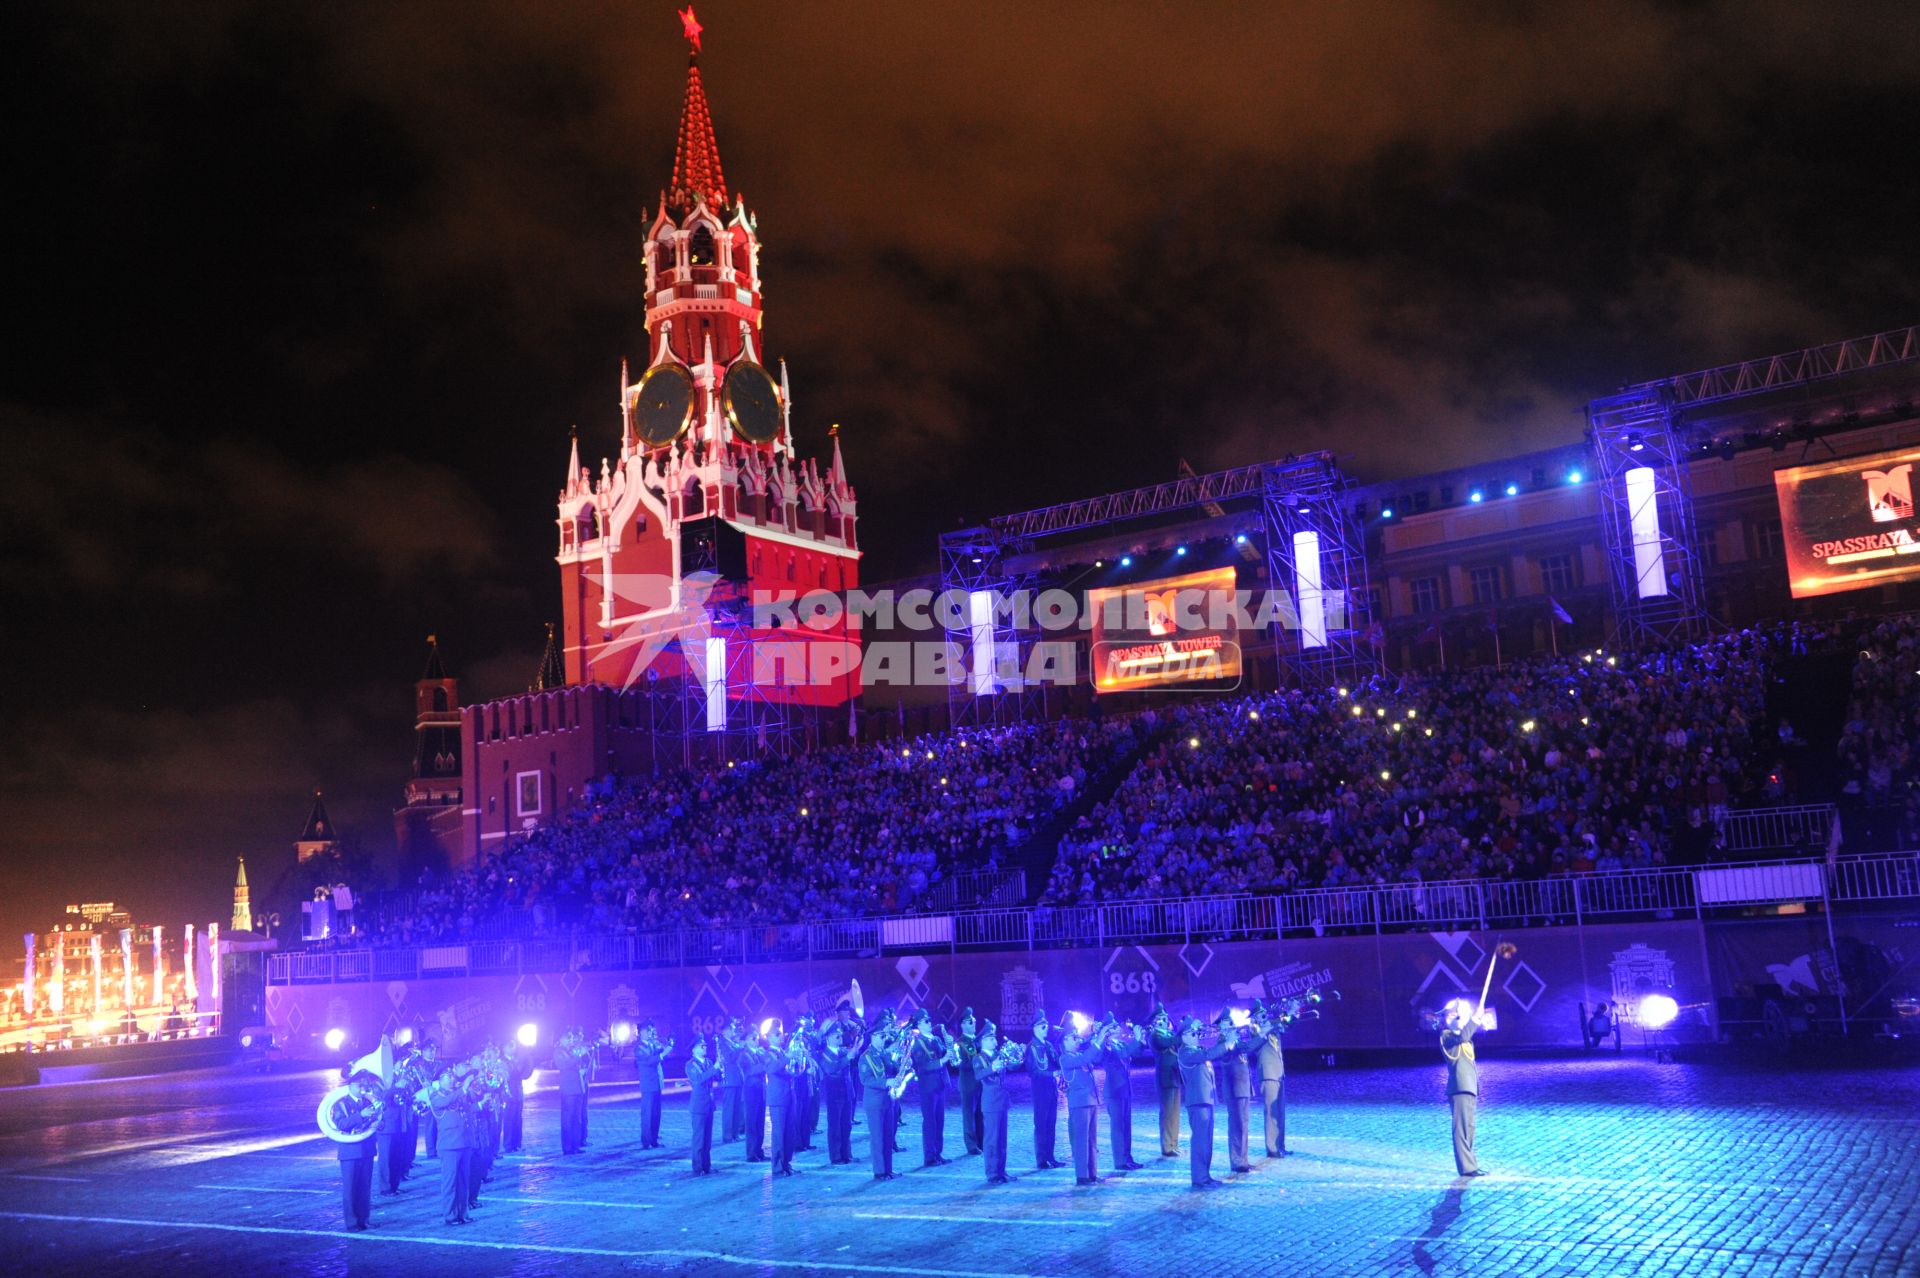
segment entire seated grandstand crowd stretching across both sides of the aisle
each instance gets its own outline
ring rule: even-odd
[[[1048,850],[1056,906],[1715,860],[1728,812],[1797,798],[1807,743],[1768,716],[1782,658],[1839,643],[1839,800],[1920,846],[1920,624],[1778,624],[609,781],[478,867],[422,875],[353,940],[914,911]]]

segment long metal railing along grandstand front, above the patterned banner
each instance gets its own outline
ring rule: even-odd
[[[1728,871],[1786,885],[1730,900]],[[1703,877],[1709,890],[1701,892]],[[1738,862],[1553,879],[1453,879],[1384,887],[1311,888],[1273,896],[1187,896],[1104,906],[964,910],[950,915],[828,919],[751,929],[580,933],[526,940],[472,940],[411,950],[340,950],[269,956],[273,984],[392,981],[422,975],[505,975],[707,963],[787,963],[925,950],[1046,950],[1192,940],[1261,940],[1283,935],[1548,927],[1609,917],[1701,917],[1709,910],[1789,902],[1895,902],[1920,898],[1920,852],[1824,862]]]

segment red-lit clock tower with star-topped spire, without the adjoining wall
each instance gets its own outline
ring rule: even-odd
[[[858,583],[854,489],[839,438],[824,466],[795,449],[785,361],[766,345],[758,221],[720,167],[701,27],[691,8],[680,19],[687,94],[672,180],[641,246],[641,372],[634,378],[622,363],[616,453],[595,472],[576,441],[559,497],[568,683],[628,687],[647,672],[699,666],[710,627],[726,626],[712,604],[730,595],[843,593]],[[693,616],[703,601],[708,629]],[[741,702],[751,697],[735,677],[741,649],[762,635],[735,627],[724,637],[735,645],[728,695]],[[847,641],[845,631],[818,637]],[[701,677],[710,687],[718,674]],[[787,679],[780,697],[828,706],[856,691],[856,675]]]

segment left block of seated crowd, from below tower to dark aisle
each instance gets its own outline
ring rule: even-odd
[[[791,923],[924,908],[1116,766],[1133,723],[1023,723],[597,789],[482,865],[422,879],[380,940]]]

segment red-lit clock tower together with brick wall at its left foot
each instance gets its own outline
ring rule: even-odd
[[[691,8],[680,19],[674,171],[639,246],[645,349],[622,361],[599,464],[578,436],[566,459],[563,660],[528,693],[461,712],[467,864],[609,775],[841,739],[860,691],[854,626],[756,610],[858,585],[854,489],[837,428],[824,462],[795,447],[758,223],[720,167],[701,25]]]

